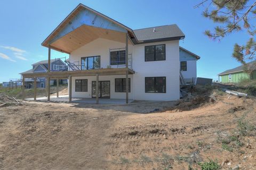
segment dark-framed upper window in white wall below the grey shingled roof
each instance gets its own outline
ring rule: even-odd
[[[145,61],[165,60],[165,44],[145,46]]]

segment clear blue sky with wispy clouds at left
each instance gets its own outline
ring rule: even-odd
[[[47,48],[41,43],[79,3],[132,29],[176,23],[186,36],[180,46],[201,56],[197,76],[217,80],[218,73],[240,65],[231,56],[233,46],[244,44],[249,35],[241,31],[220,42],[206,37],[204,30],[215,25],[202,16],[204,7],[193,8],[201,1],[0,1],[0,82],[19,78],[31,64],[46,60]],[[52,51],[52,58],[63,56],[68,54]]]

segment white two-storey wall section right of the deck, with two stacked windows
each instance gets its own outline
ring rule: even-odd
[[[165,44],[164,61],[145,62],[145,46]],[[133,86],[135,100],[170,101],[180,99],[179,41],[135,45]],[[145,93],[145,77],[166,77],[166,93]]]

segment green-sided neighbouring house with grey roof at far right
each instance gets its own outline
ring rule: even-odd
[[[256,79],[256,61],[251,61],[246,64],[247,71],[245,66],[241,65],[239,67],[226,70],[221,72],[219,76],[219,82],[221,83],[237,83],[242,79]]]

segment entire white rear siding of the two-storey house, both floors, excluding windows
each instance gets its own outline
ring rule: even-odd
[[[124,37],[125,38],[125,37]],[[145,46],[165,44],[166,60],[145,62]],[[107,68],[110,65],[109,48],[124,48],[124,43],[110,41],[108,39],[98,38],[93,42],[86,44],[77,50],[71,52],[70,62],[79,61],[86,56],[100,55],[100,67]],[[131,93],[129,99],[134,100],[159,100],[171,101],[180,99],[180,82],[179,82],[179,41],[129,45],[129,54],[132,53],[134,75],[131,78]],[[111,66],[116,68],[117,66]],[[166,77],[166,93],[145,93],[145,77]],[[74,98],[91,98],[92,80],[95,76],[84,77],[88,79],[88,92],[75,92],[75,79],[72,78],[72,96]],[[99,76],[99,80],[110,80],[110,98],[125,99],[125,93],[115,93],[115,78],[125,78],[120,76]]]

